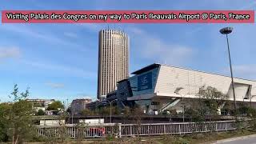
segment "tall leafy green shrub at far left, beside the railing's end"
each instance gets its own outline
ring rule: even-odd
[[[8,126],[4,136],[15,144],[34,138],[35,131],[31,118],[32,105],[26,101],[29,94],[28,89],[26,92],[18,94],[18,85],[15,85],[14,91],[9,96],[9,98],[13,98],[13,101],[2,105],[0,108],[3,111],[1,114],[3,121]]]

